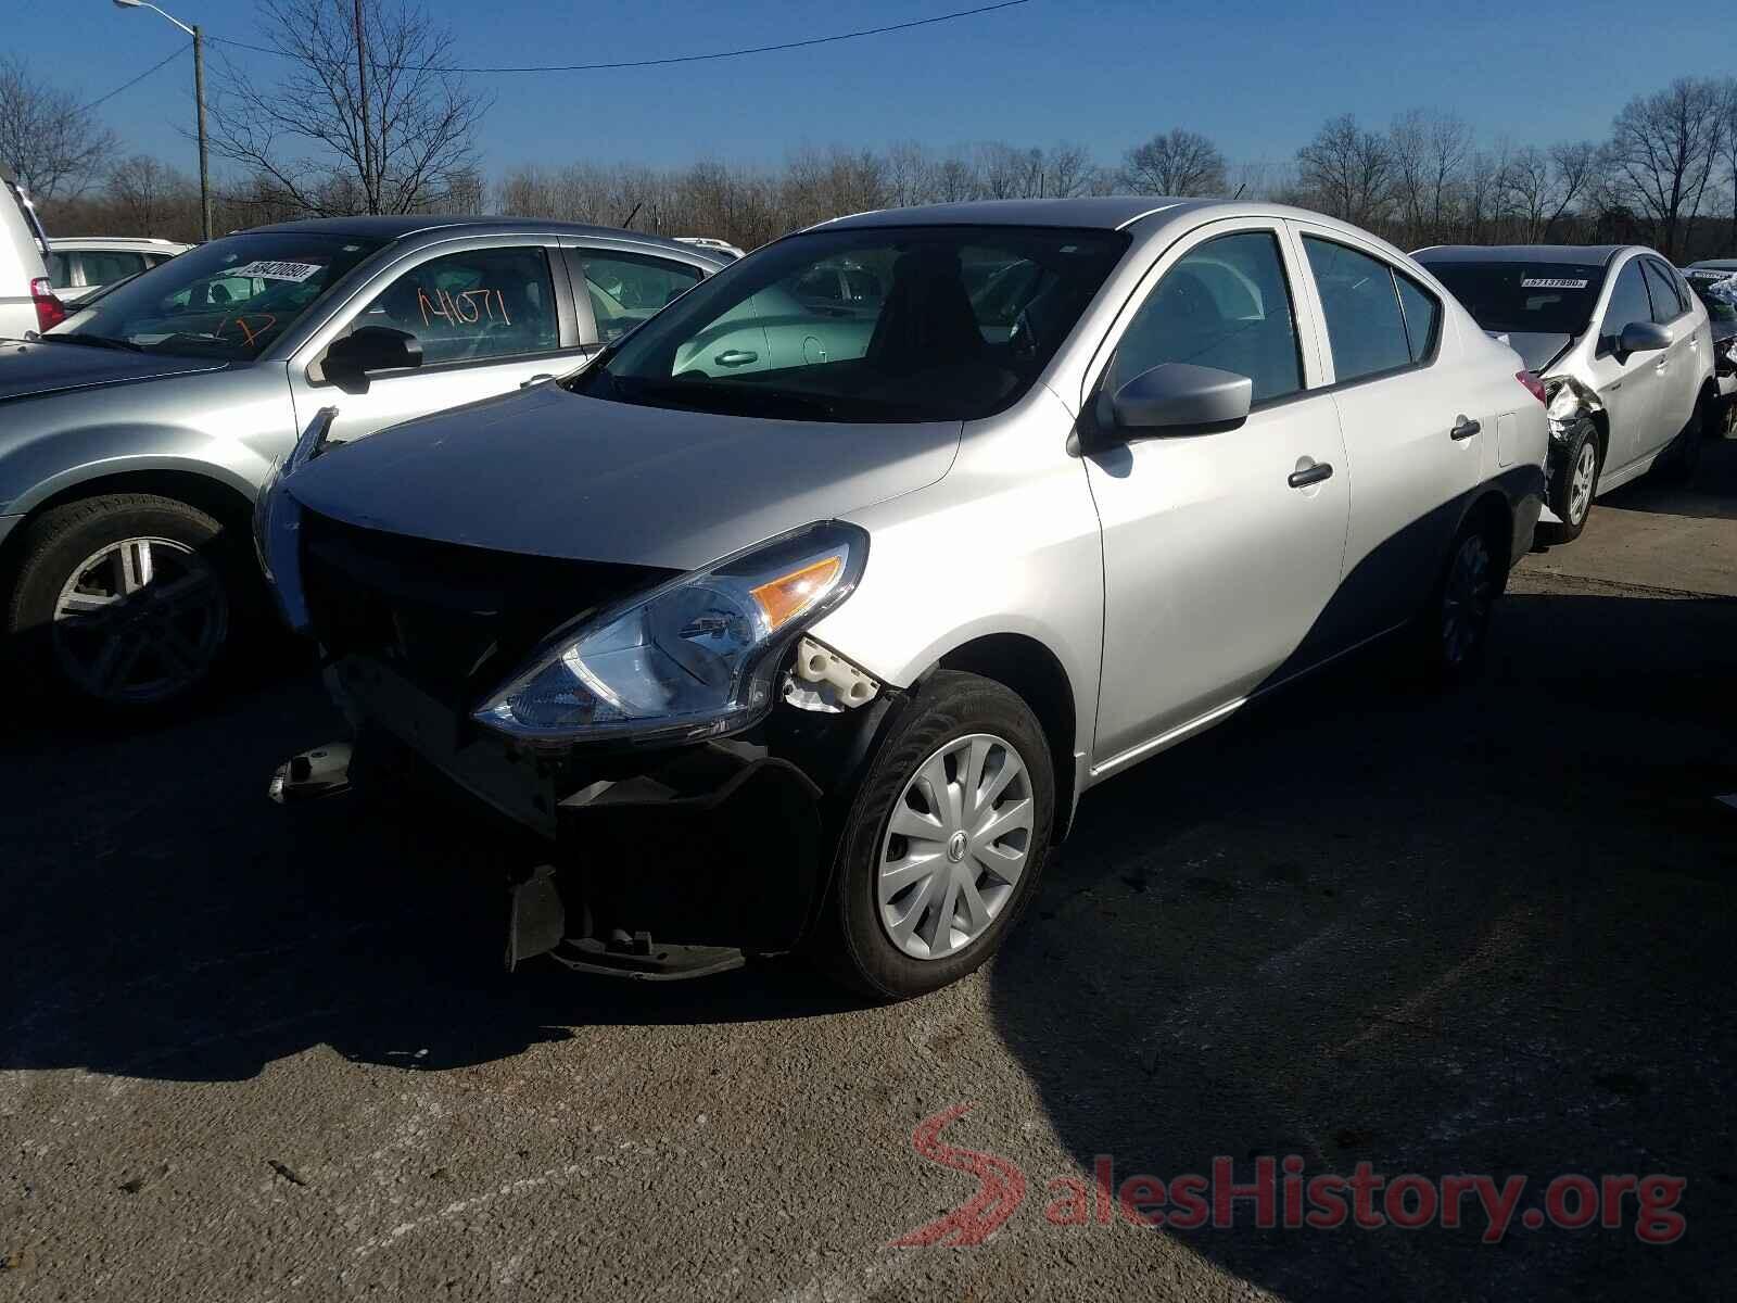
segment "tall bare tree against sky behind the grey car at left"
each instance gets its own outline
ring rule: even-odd
[[[417,212],[474,196],[472,134],[493,103],[445,69],[455,40],[408,2],[261,0],[290,63],[266,85],[226,66],[212,148],[302,210]],[[367,85],[367,99],[361,87]]]

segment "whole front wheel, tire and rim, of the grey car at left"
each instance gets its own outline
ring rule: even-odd
[[[181,702],[229,645],[226,544],[203,511],[151,493],[56,507],[24,537],[12,641],[71,704],[129,716]]]

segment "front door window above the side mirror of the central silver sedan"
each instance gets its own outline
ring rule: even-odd
[[[1247,375],[1256,403],[1303,387],[1291,287],[1271,231],[1207,240],[1166,271],[1129,321],[1106,389],[1166,361]]]

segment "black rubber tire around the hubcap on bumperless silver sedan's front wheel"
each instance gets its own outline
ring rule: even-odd
[[[881,921],[877,883],[893,806],[917,770],[945,744],[974,733],[1006,740],[1025,764],[1034,803],[1027,863],[988,926],[954,954],[917,959],[900,949]],[[898,1001],[945,987],[974,971],[1018,923],[1049,855],[1056,784],[1049,742],[1030,707],[1002,685],[938,671],[922,683],[868,763],[844,817],[832,886],[809,950],[844,985],[874,999]]]

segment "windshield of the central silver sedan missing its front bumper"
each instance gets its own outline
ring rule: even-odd
[[[1117,231],[811,231],[731,264],[568,380],[644,407],[973,420],[1011,407],[1127,248]]]

